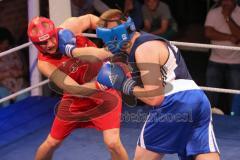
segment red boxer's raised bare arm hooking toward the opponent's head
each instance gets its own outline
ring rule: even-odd
[[[59,27],[71,30],[75,35],[83,33],[87,29],[96,29],[99,17],[86,14],[80,17],[71,17],[64,21]]]

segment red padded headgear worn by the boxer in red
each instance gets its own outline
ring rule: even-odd
[[[42,53],[46,51],[40,46],[49,38],[55,37],[58,42],[57,30],[53,21],[45,17],[35,17],[28,24],[28,37]]]

